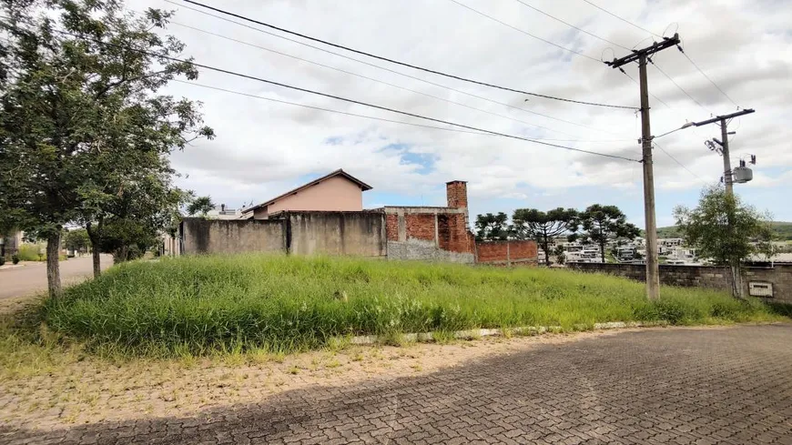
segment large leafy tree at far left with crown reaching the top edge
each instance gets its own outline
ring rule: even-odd
[[[169,13],[132,18],[118,0],[0,2],[0,215],[46,239],[56,297],[62,227],[82,221],[96,238],[128,172],[213,133],[197,104],[152,96],[175,76],[198,76],[168,58],[184,45],[154,32]]]

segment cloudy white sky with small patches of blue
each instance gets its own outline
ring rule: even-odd
[[[785,0],[593,0],[645,30],[584,0],[523,0],[607,42],[518,0],[203,2],[456,76],[543,95],[635,107],[639,88],[630,77],[638,79],[638,66],[624,66],[628,77],[602,60],[627,55],[625,48],[651,45],[652,35],[645,30],[665,36],[678,32],[685,54],[726,94],[676,48],[656,54],[655,65],[648,66],[652,134],[733,113],[737,106],[756,109],[729,126],[736,132],[730,139],[732,165],[741,157],[756,155],[756,166],[750,166],[753,181],[736,185],[735,190],[775,219],[792,220],[787,196],[792,190],[792,8]],[[127,6],[133,11],[175,10],[167,34],[186,44],[185,56],[204,65],[464,126],[641,157],[640,120],[632,109],[584,106],[472,85],[239,19],[233,20],[245,25],[230,23],[188,9],[199,7],[181,0],[135,0]],[[196,82],[200,86],[173,82],[162,92],[200,101],[206,124],[217,137],[195,141],[171,160],[182,174],[179,186],[228,207],[258,204],[343,168],[373,187],[363,194],[364,207],[442,206],[445,183],[464,180],[472,220],[487,212],[511,215],[515,208],[583,209],[599,203],[622,208],[631,222],[644,227],[642,165],[637,162],[474,134],[205,69]],[[704,145],[712,137],[720,137],[718,126],[689,127],[656,138],[662,147],[654,150],[658,226],[673,224],[675,206],[695,206],[702,187],[716,184],[722,176],[722,158]]]

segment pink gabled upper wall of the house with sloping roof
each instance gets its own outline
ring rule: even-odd
[[[254,211],[255,219],[283,210],[319,210],[359,212],[363,209],[363,191],[344,177],[330,177],[294,195],[281,197],[268,208]]]

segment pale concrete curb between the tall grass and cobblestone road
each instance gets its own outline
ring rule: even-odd
[[[650,328],[654,326],[667,326],[668,322],[665,320],[660,321],[650,321],[650,322],[641,322],[641,321],[610,321],[607,323],[594,323],[594,330],[605,330],[605,329],[624,329],[624,328]],[[577,325],[575,326],[576,329],[581,331],[588,330],[586,329],[585,325]],[[523,334],[523,335],[537,335],[537,334],[544,334],[546,332],[561,332],[562,327],[560,326],[526,326],[522,328],[513,328],[508,329],[514,334]],[[503,335],[503,329],[467,329],[467,330],[458,330],[453,333],[454,339],[478,339],[481,337],[493,337],[493,336],[500,336]],[[405,341],[418,341],[418,342],[426,342],[432,341],[434,336],[432,332],[419,332],[419,333],[411,333],[411,334],[402,334],[402,339]],[[381,338],[381,336],[376,335],[361,335],[357,337],[352,337],[350,339],[350,344],[352,345],[373,345],[380,343],[381,340],[385,340],[387,338]]]

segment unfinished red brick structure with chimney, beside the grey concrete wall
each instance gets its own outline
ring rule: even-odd
[[[446,184],[448,207],[384,207],[388,258],[474,263],[467,183]]]

